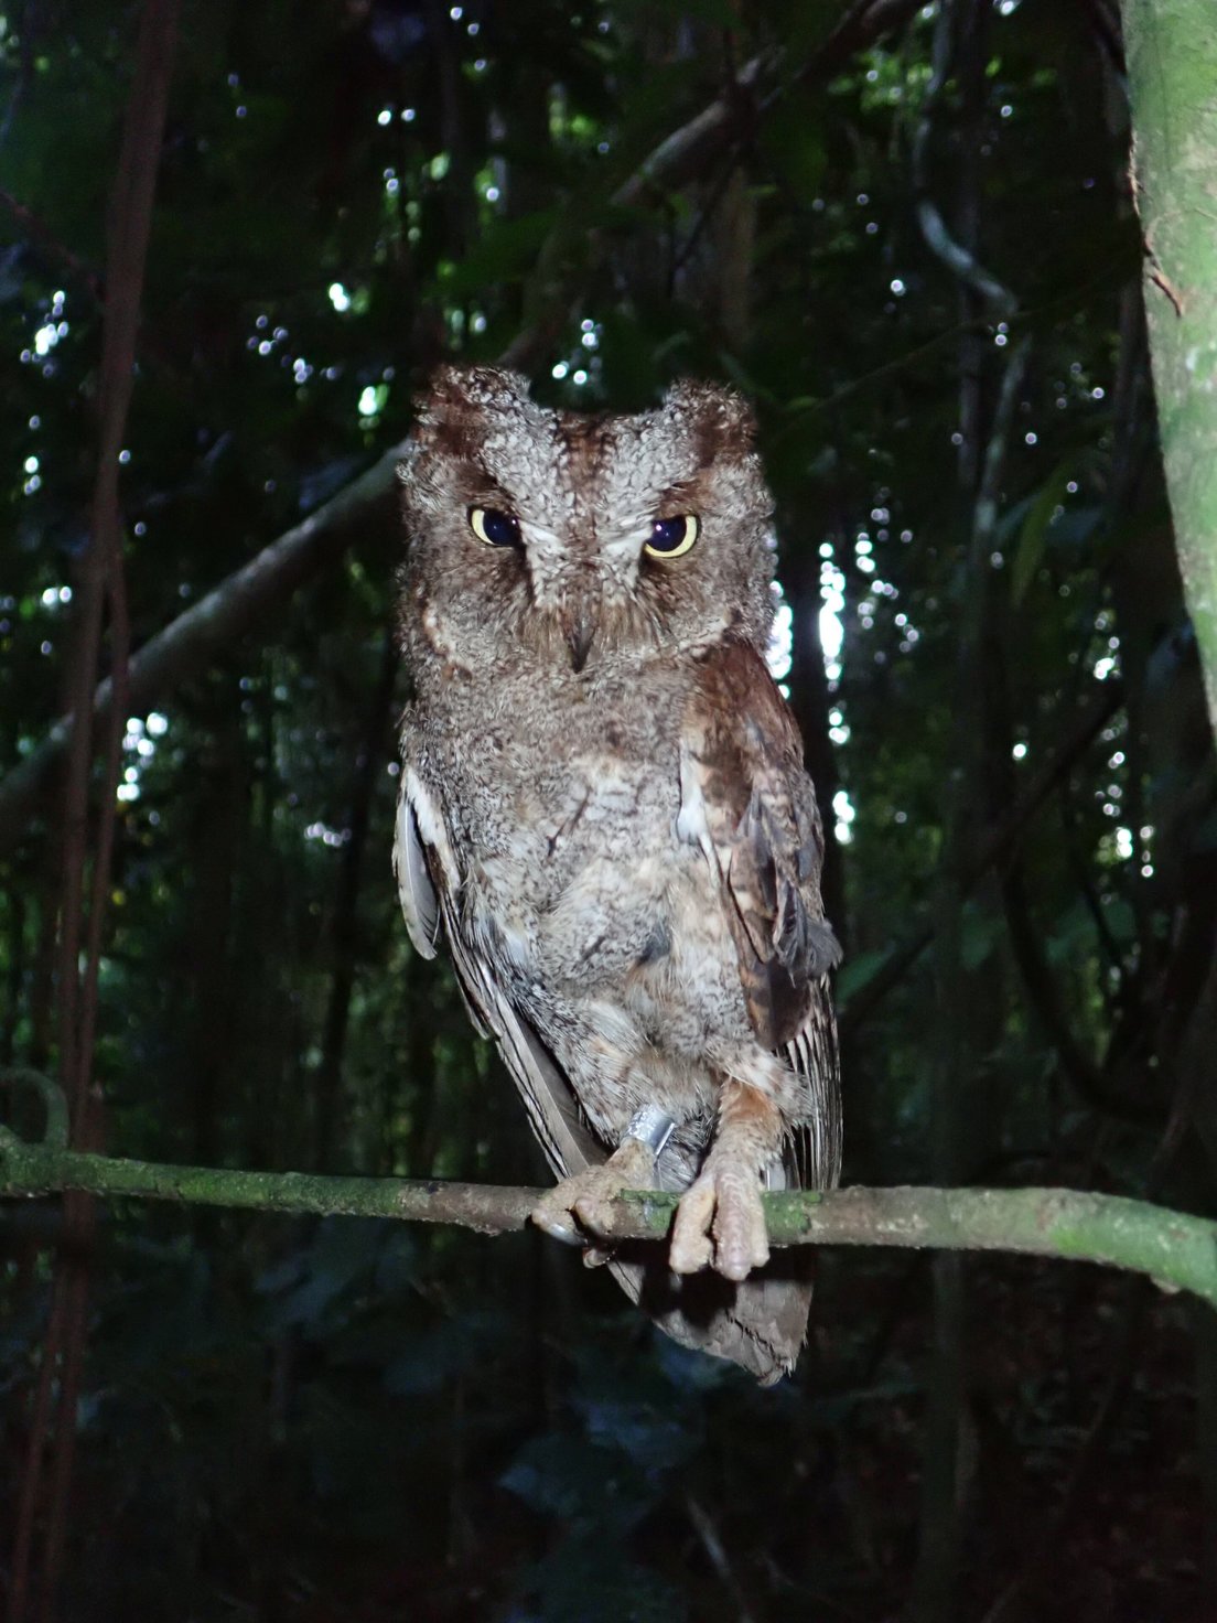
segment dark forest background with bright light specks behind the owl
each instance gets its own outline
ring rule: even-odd
[[[24,0],[0,71],[8,1126],[34,1071],[112,1156],[547,1182],[389,873],[393,448],[508,359],[755,403],[845,1182],[1214,1211],[1112,0]],[[73,1196],[0,1255],[13,1618],[1217,1613],[1217,1326],[1144,1279],[824,1250],[759,1391],[531,1232]]]

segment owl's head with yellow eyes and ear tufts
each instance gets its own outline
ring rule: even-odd
[[[656,411],[587,417],[527,380],[445,367],[402,463],[407,649],[458,669],[550,669],[695,648],[764,648],[772,500],[743,401],[675,383]]]

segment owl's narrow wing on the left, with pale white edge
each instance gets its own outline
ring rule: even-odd
[[[558,1177],[604,1160],[605,1152],[584,1126],[570,1083],[532,1026],[513,1008],[493,967],[461,930],[461,870],[453,842],[435,795],[409,763],[401,774],[393,872],[415,951],[435,958],[440,932],[448,936],[469,1016],[484,1037],[495,1039]]]

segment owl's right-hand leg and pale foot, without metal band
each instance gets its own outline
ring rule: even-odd
[[[746,1279],[769,1261],[761,1206],[761,1167],[777,1154],[785,1123],[766,1089],[729,1079],[719,1096],[719,1130],[701,1172],[682,1195],[672,1225],[675,1274],[714,1268]]]

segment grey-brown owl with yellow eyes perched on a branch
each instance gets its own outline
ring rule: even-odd
[[[761,1381],[810,1279],[763,1188],[841,1162],[823,833],[769,675],[772,500],[748,407],[673,385],[633,417],[445,368],[401,466],[394,872],[446,941],[591,1240],[659,1326]],[[596,1245],[623,1188],[680,1191],[665,1255]]]

